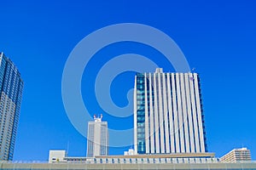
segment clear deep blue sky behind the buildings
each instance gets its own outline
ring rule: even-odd
[[[85,156],[86,139],[69,122],[62,104],[65,62],[92,31],[131,22],[164,31],[200,73],[208,150],[222,156],[245,146],[255,160],[255,5],[253,0],[1,2],[0,51],[14,61],[25,82],[14,159],[46,161],[49,150],[67,149],[67,145],[69,156]],[[86,69],[93,73],[106,59],[102,56],[111,59],[128,52],[152,59],[157,55],[141,44],[113,44],[102,49]],[[156,62],[170,69],[164,60]],[[94,76],[84,73],[83,94]],[[132,73],[117,77],[111,90],[113,101],[125,105],[132,86]],[[102,112],[95,95],[83,98],[91,104],[91,115]],[[116,129],[132,127],[132,117],[125,122],[108,115],[104,118]],[[122,154],[123,150],[112,148],[110,153]]]

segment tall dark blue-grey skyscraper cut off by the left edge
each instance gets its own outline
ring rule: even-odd
[[[13,62],[0,54],[0,160],[12,160],[23,81]]]

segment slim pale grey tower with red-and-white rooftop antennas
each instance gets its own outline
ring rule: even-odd
[[[87,156],[108,156],[108,122],[102,122],[102,116],[88,122],[87,135]]]

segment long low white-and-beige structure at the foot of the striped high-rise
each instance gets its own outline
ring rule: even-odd
[[[130,150],[131,151],[131,150]],[[132,151],[131,151],[132,152]],[[209,163],[218,162],[214,153],[176,153],[153,155],[125,155],[125,156],[95,156],[95,157],[69,157],[65,150],[52,150],[49,152],[50,163],[85,163],[85,164],[150,164],[150,163]]]

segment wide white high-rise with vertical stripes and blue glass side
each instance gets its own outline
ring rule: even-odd
[[[137,154],[207,152],[196,73],[137,73],[134,91]]]

